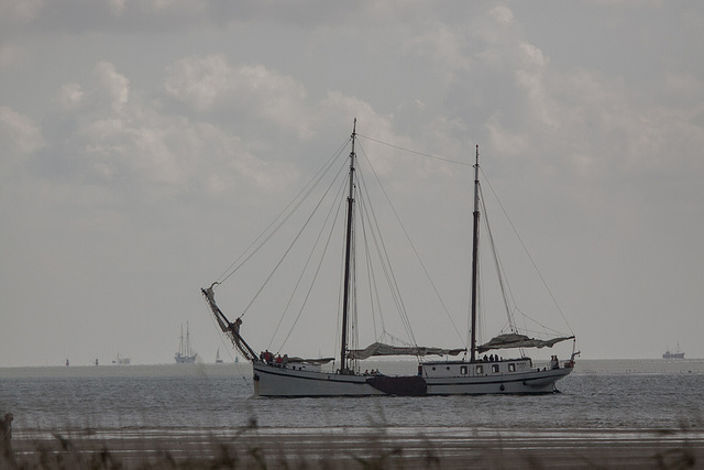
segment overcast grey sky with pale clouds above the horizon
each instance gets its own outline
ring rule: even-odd
[[[703,40],[701,1],[0,0],[0,367],[169,363],[186,321],[227,358],[199,288],[354,118],[481,145],[583,358],[702,358]],[[464,316],[471,167],[360,143]]]

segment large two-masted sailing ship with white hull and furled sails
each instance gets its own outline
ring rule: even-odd
[[[273,354],[268,350],[256,353],[242,335],[242,315],[230,321],[223,314],[215,298],[215,288],[224,280],[215,282],[210,287],[201,288],[206,303],[212,311],[220,329],[230,338],[239,352],[252,363],[254,393],[260,396],[426,396],[426,395],[461,395],[461,394],[546,394],[557,392],[556,382],[570,374],[574,368],[574,352],[569,360],[560,361],[552,356],[550,362],[534,363],[526,356],[526,348],[552,348],[553,345],[572,339],[574,335],[558,336],[549,339],[531,338],[520,334],[515,325],[510,329],[496,336],[491,341],[477,343],[480,293],[479,293],[479,243],[480,243],[480,166],[479,145],[474,167],[474,211],[472,232],[472,274],[471,274],[471,307],[468,346],[461,348],[422,347],[417,343],[394,345],[380,340],[364,349],[356,346],[354,335],[358,332],[356,300],[358,285],[356,269],[360,264],[355,256],[359,250],[355,245],[355,228],[358,198],[363,196],[359,186],[358,155],[355,153],[356,119],[350,138],[349,172],[345,175],[346,200],[339,197],[345,210],[344,248],[341,275],[340,305],[340,354],[337,358],[304,359],[298,357],[283,357]],[[366,200],[366,199],[364,199]],[[365,207],[364,204],[360,204]],[[367,222],[370,225],[370,222]],[[369,227],[367,227],[369,229]],[[364,228],[361,229],[366,240]],[[266,238],[266,237],[265,237]],[[384,244],[378,243],[378,244]],[[293,247],[293,245],[292,245]],[[289,247],[290,250],[290,247]],[[364,262],[369,264],[369,255]],[[234,264],[234,263],[233,263]],[[388,276],[393,278],[392,276]],[[391,283],[393,284],[393,282]],[[261,292],[261,289],[260,289]],[[308,291],[310,293],[310,291]],[[306,297],[307,298],[307,297]],[[403,304],[400,298],[398,304]],[[250,303],[251,305],[251,303]],[[244,311],[249,309],[248,305]],[[510,318],[510,315],[509,315]],[[535,335],[534,335],[535,336]],[[498,350],[517,349],[519,356],[504,359]],[[486,353],[492,351],[487,357]],[[483,356],[482,356],[483,354]],[[378,371],[362,372],[362,361],[370,358],[388,356],[415,356],[417,358],[417,373],[409,375],[386,375]],[[430,360],[428,357],[439,356],[442,359]]]

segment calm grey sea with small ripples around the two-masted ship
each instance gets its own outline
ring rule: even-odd
[[[415,363],[378,362],[389,374]],[[251,367],[101,365],[0,369],[0,411],[18,437],[87,430],[218,433],[248,426],[306,429],[394,428],[585,430],[704,428],[704,360],[581,360],[544,396],[255,398]]]

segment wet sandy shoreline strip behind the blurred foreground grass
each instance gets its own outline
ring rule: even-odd
[[[57,435],[61,433],[57,433]],[[176,462],[230,462],[230,468],[688,468],[704,463],[704,429],[451,429],[398,428],[105,431],[13,439],[19,462],[73,459],[90,467],[108,456],[123,468]],[[107,452],[105,452],[107,450]],[[52,467],[36,467],[52,468]],[[179,467],[183,468],[183,467]]]

